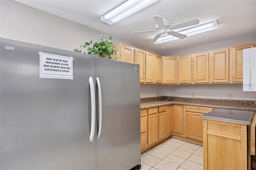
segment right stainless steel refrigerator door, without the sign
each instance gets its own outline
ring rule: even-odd
[[[95,59],[102,89],[102,132],[96,169],[128,170],[140,164],[139,65]]]

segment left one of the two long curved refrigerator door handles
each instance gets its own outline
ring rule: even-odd
[[[95,119],[96,119],[96,105],[95,105],[95,90],[92,77],[89,78],[90,90],[91,90],[91,103],[92,103],[92,119],[91,119],[91,132],[90,141],[92,142],[94,138],[95,131]]]

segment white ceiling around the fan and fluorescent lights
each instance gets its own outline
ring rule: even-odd
[[[100,16],[124,0],[17,0],[56,16],[78,22],[112,36],[144,47],[168,53],[200,45],[231,40],[256,34],[256,0],[159,0],[158,2],[109,25]],[[154,30],[152,16],[168,18],[172,24],[193,19],[205,24],[217,20],[219,29],[163,44],[149,43],[156,32],[131,34],[133,31]]]

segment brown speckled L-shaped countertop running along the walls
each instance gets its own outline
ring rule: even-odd
[[[161,101],[160,99],[172,99],[172,101]],[[237,109],[256,111],[256,101],[205,99],[190,97],[149,97],[140,99],[140,109],[148,109],[164,105],[189,105],[198,107],[211,107],[217,109]]]

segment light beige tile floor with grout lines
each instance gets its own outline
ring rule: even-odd
[[[141,154],[141,170],[202,170],[203,146],[170,138]]]

